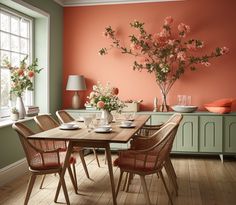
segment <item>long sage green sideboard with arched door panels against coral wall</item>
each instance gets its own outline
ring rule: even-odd
[[[67,110],[73,117],[99,111]],[[137,112],[149,114],[149,124],[160,124],[174,112]],[[236,113],[214,114],[210,112],[183,113],[172,153],[181,154],[217,154],[223,160],[223,155],[236,155]],[[126,148],[127,145],[114,144],[112,149]]]

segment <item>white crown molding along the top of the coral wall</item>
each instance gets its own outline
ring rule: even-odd
[[[152,3],[152,2],[170,2],[184,0],[54,0],[61,6],[97,6],[111,4],[133,4],[133,3]]]

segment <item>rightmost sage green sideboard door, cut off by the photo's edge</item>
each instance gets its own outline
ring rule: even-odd
[[[224,117],[224,152],[236,153],[236,117]]]

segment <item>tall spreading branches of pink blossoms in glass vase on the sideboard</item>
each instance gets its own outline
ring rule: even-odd
[[[227,47],[217,47],[210,54],[196,55],[204,47],[204,42],[198,39],[186,39],[190,27],[184,23],[177,26],[173,32],[174,19],[169,16],[164,20],[161,31],[150,34],[144,29],[144,23],[134,21],[130,26],[137,30],[137,35],[130,35],[130,46],[121,45],[111,26],[105,28],[104,36],[111,41],[109,48],[102,48],[100,55],[106,55],[108,50],[117,48],[123,54],[136,57],[133,69],[146,70],[155,73],[156,82],[163,96],[161,111],[168,110],[166,96],[177,79],[184,74],[186,69],[196,70],[197,64],[210,66],[211,58],[228,53]]]

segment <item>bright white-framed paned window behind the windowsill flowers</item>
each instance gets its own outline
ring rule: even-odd
[[[14,99],[9,94],[10,71],[3,67],[3,60],[7,58],[12,66],[19,66],[20,61],[28,55],[28,61],[31,62],[31,30],[32,19],[0,6],[0,117],[6,116],[10,107],[14,106]],[[27,97],[31,102],[29,98],[32,95]],[[23,98],[26,101],[26,96]]]

